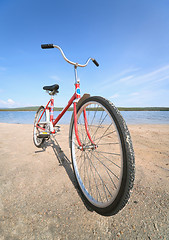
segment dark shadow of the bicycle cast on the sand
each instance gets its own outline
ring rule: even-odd
[[[55,136],[52,136],[49,141],[44,142],[41,151],[45,151],[47,147],[52,147],[52,149],[55,153],[55,156],[58,159],[59,165],[63,166],[65,168],[65,171],[66,171],[70,181],[72,182],[74,188],[76,189],[79,197],[81,198],[83,204],[85,205],[87,210],[89,210],[90,212],[93,212],[93,209],[86,203],[86,201],[84,200],[84,198],[83,198],[83,196],[82,196],[82,194],[81,194],[81,192],[78,188],[78,185],[77,185],[77,182],[76,182],[76,179],[75,179],[75,175],[74,175],[74,171],[72,169],[72,162],[69,160],[69,158],[62,151],[58,141],[55,138]]]

